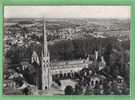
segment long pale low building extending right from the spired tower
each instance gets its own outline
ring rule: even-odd
[[[88,61],[87,59],[51,63],[51,72],[53,75],[78,72],[83,68],[88,68],[88,65],[91,63],[92,61]]]

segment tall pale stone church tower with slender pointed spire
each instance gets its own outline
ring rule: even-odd
[[[43,53],[42,53],[42,89],[49,89],[52,84],[51,66],[50,66],[50,55],[48,52],[47,36],[46,36],[46,25],[43,19]]]

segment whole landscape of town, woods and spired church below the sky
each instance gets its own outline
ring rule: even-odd
[[[5,19],[3,92],[129,95],[129,52],[128,19]]]

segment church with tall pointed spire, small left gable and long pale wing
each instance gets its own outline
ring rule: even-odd
[[[52,85],[52,75],[62,73],[69,73],[70,71],[77,72],[82,68],[88,67],[90,63],[88,59],[77,60],[77,61],[66,61],[66,62],[58,62],[58,63],[51,63],[50,62],[50,55],[48,51],[48,44],[47,44],[47,35],[46,35],[46,25],[45,21],[43,21],[43,46],[42,52],[37,53],[33,51],[31,63],[34,66],[39,66],[40,69],[36,69],[37,71],[37,82],[36,86],[41,88],[42,90],[46,90],[51,88]],[[39,56],[41,55],[41,57]]]

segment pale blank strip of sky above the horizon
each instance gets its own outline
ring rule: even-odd
[[[5,18],[118,18],[131,17],[130,6],[5,6]]]

